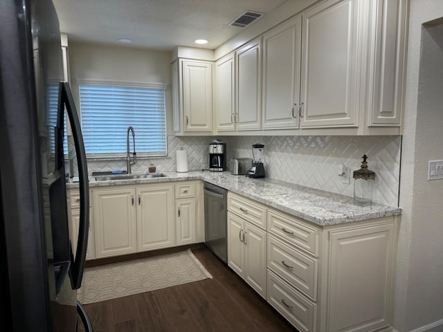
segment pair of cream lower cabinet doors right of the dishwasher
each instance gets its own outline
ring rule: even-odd
[[[228,266],[266,297],[266,232],[228,212]]]

